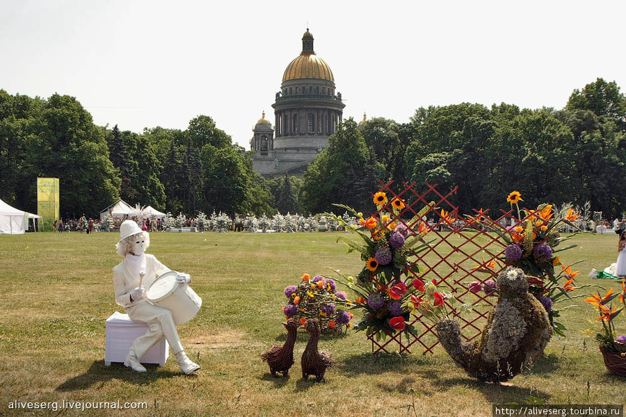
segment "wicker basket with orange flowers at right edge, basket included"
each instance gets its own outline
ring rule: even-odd
[[[617,336],[613,320],[626,308],[625,295],[626,282],[622,280],[620,293],[613,293],[613,288],[611,288],[604,296],[597,293],[585,299],[600,313],[598,320],[602,321],[602,332],[596,334],[595,340],[600,343],[604,366],[609,372],[622,377],[626,377],[626,336]],[[619,309],[613,304],[613,300],[617,297],[622,304]]]

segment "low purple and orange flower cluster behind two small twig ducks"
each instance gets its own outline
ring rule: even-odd
[[[284,288],[288,301],[282,313],[288,319],[298,320],[300,325],[314,318],[318,320],[322,332],[341,332],[344,327],[349,329],[353,314],[346,308],[351,306],[351,301],[344,291],[336,290],[337,284],[333,279],[321,275],[311,278],[311,275],[303,274],[297,286]]]

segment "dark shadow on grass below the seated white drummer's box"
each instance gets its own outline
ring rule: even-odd
[[[55,391],[79,391],[88,389],[90,386],[110,381],[111,379],[121,379],[129,384],[149,385],[157,379],[182,376],[182,373],[162,370],[157,365],[147,364],[147,372],[138,373],[125,367],[122,363],[112,363],[111,366],[104,366],[104,361],[94,361],[86,373],[67,379],[63,384],[56,387]],[[195,374],[188,375],[195,378]]]

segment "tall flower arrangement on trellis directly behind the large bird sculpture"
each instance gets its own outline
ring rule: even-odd
[[[563,311],[556,308],[556,303],[572,299],[569,293],[584,286],[574,285],[574,278],[579,271],[572,271],[572,266],[582,261],[565,265],[561,262],[561,257],[556,256],[558,252],[577,246],[568,245],[556,249],[563,241],[574,237],[578,232],[562,237],[558,227],[565,223],[581,231],[572,224],[579,215],[570,204],[565,204],[560,211],[556,211],[552,204],[540,204],[536,210],[520,210],[519,203],[524,200],[519,191],[509,194],[506,201],[511,204],[511,208],[515,206],[517,209],[517,218],[513,218],[512,226],[504,228],[492,221],[489,222],[482,210],[476,216],[468,216],[469,221],[472,224],[481,224],[498,234],[504,246],[504,253],[497,261],[503,263],[504,267],[512,266],[524,271],[527,275],[529,293],[537,297],[544,306],[554,332],[559,336],[565,336],[565,326],[554,320],[559,318],[560,312]],[[496,264],[496,261],[492,260],[474,269],[491,273],[495,277]],[[555,270],[559,265],[560,270]],[[561,284],[563,280],[565,282]],[[498,291],[493,280],[485,281],[482,286],[474,281],[469,284],[469,288],[472,293],[479,293],[482,289],[487,295],[495,295]]]

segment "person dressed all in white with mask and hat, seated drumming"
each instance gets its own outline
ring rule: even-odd
[[[157,277],[170,270],[154,255],[145,254],[148,246],[150,236],[147,232],[142,231],[134,220],[125,220],[120,226],[120,241],[115,245],[118,255],[124,258],[113,268],[115,302],[124,307],[131,320],[146,323],[150,328],[143,336],[135,339],[124,365],[137,372],[145,372],[140,363],[141,358],[150,347],[159,343],[161,337],[165,336],[180,370],[188,375],[200,369],[200,366],[193,363],[185,354],[171,311],[154,306],[145,299],[144,288],[149,288]],[[141,286],[140,272],[145,274]],[[187,274],[179,274],[177,281],[180,285],[187,285],[191,283],[191,278]]]

